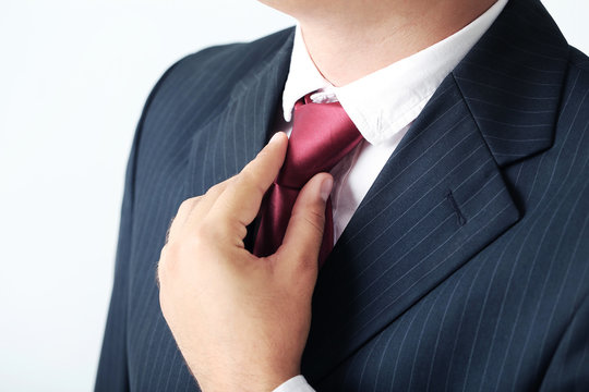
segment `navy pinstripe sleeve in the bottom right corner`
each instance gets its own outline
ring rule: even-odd
[[[589,296],[564,332],[540,391],[589,391]]]

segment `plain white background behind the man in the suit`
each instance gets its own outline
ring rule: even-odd
[[[589,3],[544,3],[589,52]],[[292,23],[255,0],[2,0],[1,391],[92,390],[124,167],[159,75]]]

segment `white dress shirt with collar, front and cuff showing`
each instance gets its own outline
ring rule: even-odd
[[[315,68],[297,26],[290,71],[283,94],[283,119],[276,131],[292,131],[294,103],[305,95],[313,102],[339,101],[364,140],[333,170],[334,243],[350,221],[386,161],[442,81],[460,62],[498,16],[507,0],[454,35],[341,87],[327,82]],[[314,391],[304,377],[294,377],[274,392]]]

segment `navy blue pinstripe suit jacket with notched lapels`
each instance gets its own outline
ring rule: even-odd
[[[293,30],[211,48],[152,93],[131,154],[97,391],[194,391],[155,267],[180,203],[265,144]],[[589,390],[589,59],[512,0],[444,81],[321,270],[318,391]]]

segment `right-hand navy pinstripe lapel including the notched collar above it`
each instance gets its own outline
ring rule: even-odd
[[[518,221],[501,170],[552,145],[566,54],[540,3],[512,0],[444,81],[320,271],[312,382]]]

